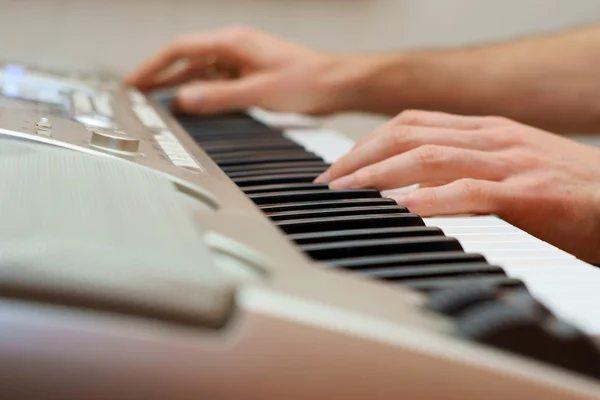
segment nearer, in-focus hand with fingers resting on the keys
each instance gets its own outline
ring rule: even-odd
[[[422,216],[495,214],[600,262],[600,149],[498,117],[409,111],[317,178],[332,188],[394,189]]]

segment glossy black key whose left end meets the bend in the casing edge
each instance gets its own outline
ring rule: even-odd
[[[350,240],[347,242],[307,244],[300,246],[300,248],[315,260],[463,250],[458,240],[447,236]]]

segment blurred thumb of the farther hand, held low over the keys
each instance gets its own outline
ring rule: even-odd
[[[174,107],[197,114],[240,110],[257,106],[265,90],[263,77],[196,82],[179,89]]]

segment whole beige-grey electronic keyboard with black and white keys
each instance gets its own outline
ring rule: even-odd
[[[303,116],[0,81],[3,399],[600,398],[595,267],[313,184],[351,144]]]

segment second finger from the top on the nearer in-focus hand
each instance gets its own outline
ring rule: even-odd
[[[377,140],[355,146],[321,174],[315,182],[331,182],[367,165],[425,145],[478,150],[490,150],[494,147],[488,135],[473,135],[446,128],[391,126],[385,134],[379,135]]]

